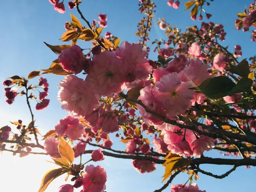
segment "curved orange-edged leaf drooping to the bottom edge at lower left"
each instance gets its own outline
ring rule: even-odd
[[[45,189],[47,189],[47,186],[52,182],[52,180],[54,180],[55,178],[57,178],[58,176],[64,174],[65,171],[62,168],[58,168],[58,169],[52,169],[49,170],[43,177],[42,182],[41,182],[41,186],[38,190],[38,192],[44,192]]]

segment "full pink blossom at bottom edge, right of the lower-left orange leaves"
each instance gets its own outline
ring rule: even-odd
[[[89,165],[85,167],[83,177],[84,192],[104,192],[107,174],[102,166]]]

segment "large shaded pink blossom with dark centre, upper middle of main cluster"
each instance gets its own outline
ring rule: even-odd
[[[93,66],[86,80],[95,94],[113,96],[121,92],[122,61],[111,51],[93,55]]]

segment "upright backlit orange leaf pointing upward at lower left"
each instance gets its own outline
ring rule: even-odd
[[[74,151],[73,148],[60,137],[60,143],[58,144],[58,151],[61,157],[66,159],[69,163],[74,161]]]

